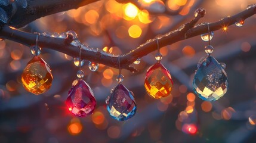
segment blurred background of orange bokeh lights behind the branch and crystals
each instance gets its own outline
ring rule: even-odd
[[[119,4],[103,0],[49,15],[21,30],[58,33],[73,30],[82,43],[112,54],[125,54],[141,43],[177,29],[202,7],[206,15],[198,24],[214,22],[246,10],[252,0],[141,0]],[[226,63],[229,89],[218,101],[206,102],[192,91],[196,64],[205,56],[200,36],[161,48],[162,64],[169,69],[174,86],[161,100],[150,98],[144,89],[146,70],[156,63],[153,52],[141,58],[131,73],[122,70],[125,85],[134,92],[137,113],[118,122],[109,116],[105,99],[117,85],[119,70],[100,64],[97,71],[82,70],[97,100],[94,114],[76,118],[64,101],[76,79],[73,58],[51,49],[42,57],[53,73],[51,89],[42,95],[25,91],[21,73],[33,57],[28,47],[12,41],[0,42],[0,142],[254,142],[256,139],[256,16],[214,32],[212,56]]]

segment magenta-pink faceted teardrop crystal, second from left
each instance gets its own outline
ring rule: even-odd
[[[77,117],[85,117],[93,113],[96,100],[90,86],[84,80],[73,81],[66,105],[69,111]]]

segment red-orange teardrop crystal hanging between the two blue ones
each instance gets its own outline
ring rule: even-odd
[[[160,62],[149,67],[144,83],[147,94],[156,99],[166,97],[171,94],[172,85],[171,74]]]

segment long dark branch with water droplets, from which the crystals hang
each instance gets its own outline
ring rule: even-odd
[[[211,31],[223,29],[223,27],[235,24],[237,21],[245,20],[256,13],[255,5],[248,8],[248,10],[242,11],[231,17],[223,18],[220,21],[209,24],[209,29]],[[129,66],[138,58],[144,57],[150,52],[158,49],[156,39],[159,42],[159,48],[171,45],[172,43],[183,41],[184,39],[192,38],[197,35],[208,32],[207,24],[200,24],[196,27],[195,24],[198,20],[203,17],[203,15],[195,17],[189,23],[183,24],[180,29],[168,32],[165,35],[159,36],[155,39],[150,39],[146,43],[141,44],[138,48],[128,52],[127,54],[120,55],[121,69],[128,69],[132,72],[136,71],[134,67]],[[21,32],[20,30],[11,28],[9,26],[4,26],[0,33],[0,38],[10,39],[11,41],[16,41],[22,43],[23,45],[32,46],[35,45],[36,39],[35,33]],[[65,39],[53,38],[49,36],[39,35],[38,45],[42,48],[50,48],[55,51],[63,52],[64,54],[70,55],[72,57],[77,57],[79,53],[79,48],[70,44],[65,43]],[[107,54],[104,51],[87,48],[81,52],[81,57],[85,60],[94,61],[96,63],[101,63],[109,67],[115,67],[119,69],[118,57],[119,55]]]

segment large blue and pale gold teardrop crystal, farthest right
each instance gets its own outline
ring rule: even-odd
[[[203,57],[193,79],[193,89],[202,100],[215,101],[227,92],[227,73],[214,57]]]

